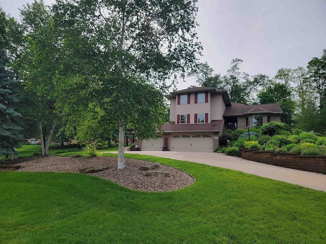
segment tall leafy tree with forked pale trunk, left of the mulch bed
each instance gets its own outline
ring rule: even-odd
[[[43,1],[26,4],[21,10],[22,23],[26,29],[26,48],[16,63],[22,64],[20,72],[25,86],[25,96],[33,107],[41,139],[41,154],[47,155],[58,114],[55,111],[56,87],[53,77],[60,64],[52,15]]]

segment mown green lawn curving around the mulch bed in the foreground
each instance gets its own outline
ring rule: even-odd
[[[125,156],[180,168],[196,182],[146,193],[90,175],[1,172],[0,243],[326,242],[325,192],[186,161]]]

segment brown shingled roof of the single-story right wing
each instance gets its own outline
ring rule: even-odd
[[[247,115],[247,114],[259,114],[259,113],[283,113],[278,103],[270,104],[256,104],[256,105],[244,105],[241,103],[231,103],[231,106],[226,107],[224,116],[234,115]]]

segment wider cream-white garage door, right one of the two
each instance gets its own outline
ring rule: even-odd
[[[171,151],[213,152],[213,136],[206,134],[172,135]]]

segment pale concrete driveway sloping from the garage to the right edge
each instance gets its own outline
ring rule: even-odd
[[[111,152],[112,153],[112,152]],[[216,153],[187,153],[183,151],[125,151],[127,154],[142,154],[185,160],[199,164],[227,168],[255,174],[262,177],[286,181],[295,185],[321,190],[326,192],[326,175],[306,172],[296,169],[287,169],[274,165],[257,163],[241,158],[230,157]]]

